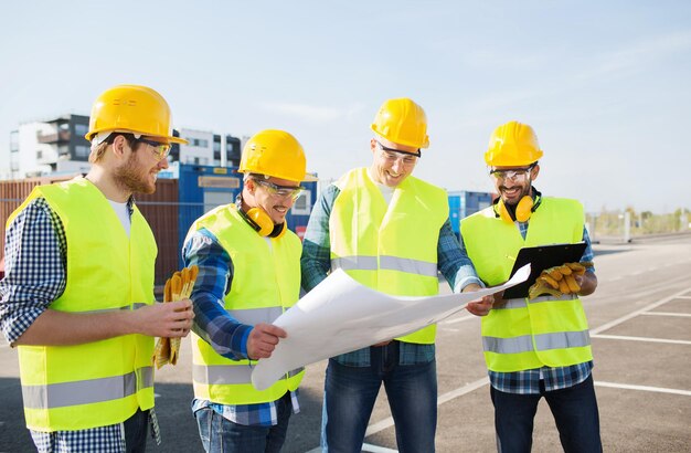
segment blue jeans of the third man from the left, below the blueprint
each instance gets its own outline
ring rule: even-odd
[[[401,453],[434,452],[437,429],[436,361],[398,365],[397,341],[372,347],[371,366],[329,359],[321,419],[323,452],[360,453],[379,389],[384,382]]]

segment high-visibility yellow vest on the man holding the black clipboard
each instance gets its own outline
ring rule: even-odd
[[[493,208],[460,223],[460,232],[478,276],[493,286],[509,278],[523,246],[575,243],[583,239],[583,207],[575,200],[542,198],[530,218],[525,240]],[[587,319],[575,295],[509,299],[506,307],[482,317],[487,367],[511,372],[566,367],[593,359]]]

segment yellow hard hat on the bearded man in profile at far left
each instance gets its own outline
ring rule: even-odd
[[[158,137],[173,144],[188,143],[173,137],[170,107],[163,96],[140,85],[114,86],[94,103],[84,137],[91,141],[96,134],[110,130]]]

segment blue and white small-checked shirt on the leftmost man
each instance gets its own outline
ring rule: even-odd
[[[130,215],[134,200],[128,208]],[[43,198],[32,200],[7,231],[4,278],[0,281],[0,328],[10,344],[65,291],[67,240],[64,227]],[[151,435],[160,443],[158,420],[149,412]],[[123,423],[79,431],[31,431],[40,452],[123,452]]]

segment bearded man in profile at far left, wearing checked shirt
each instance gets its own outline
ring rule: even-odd
[[[168,168],[170,108],[146,86],[94,103],[86,177],[34,188],[8,220],[2,331],[19,350],[40,452],[143,452],[153,337],[184,337],[191,302],[156,304],[153,233],[132,194]]]

